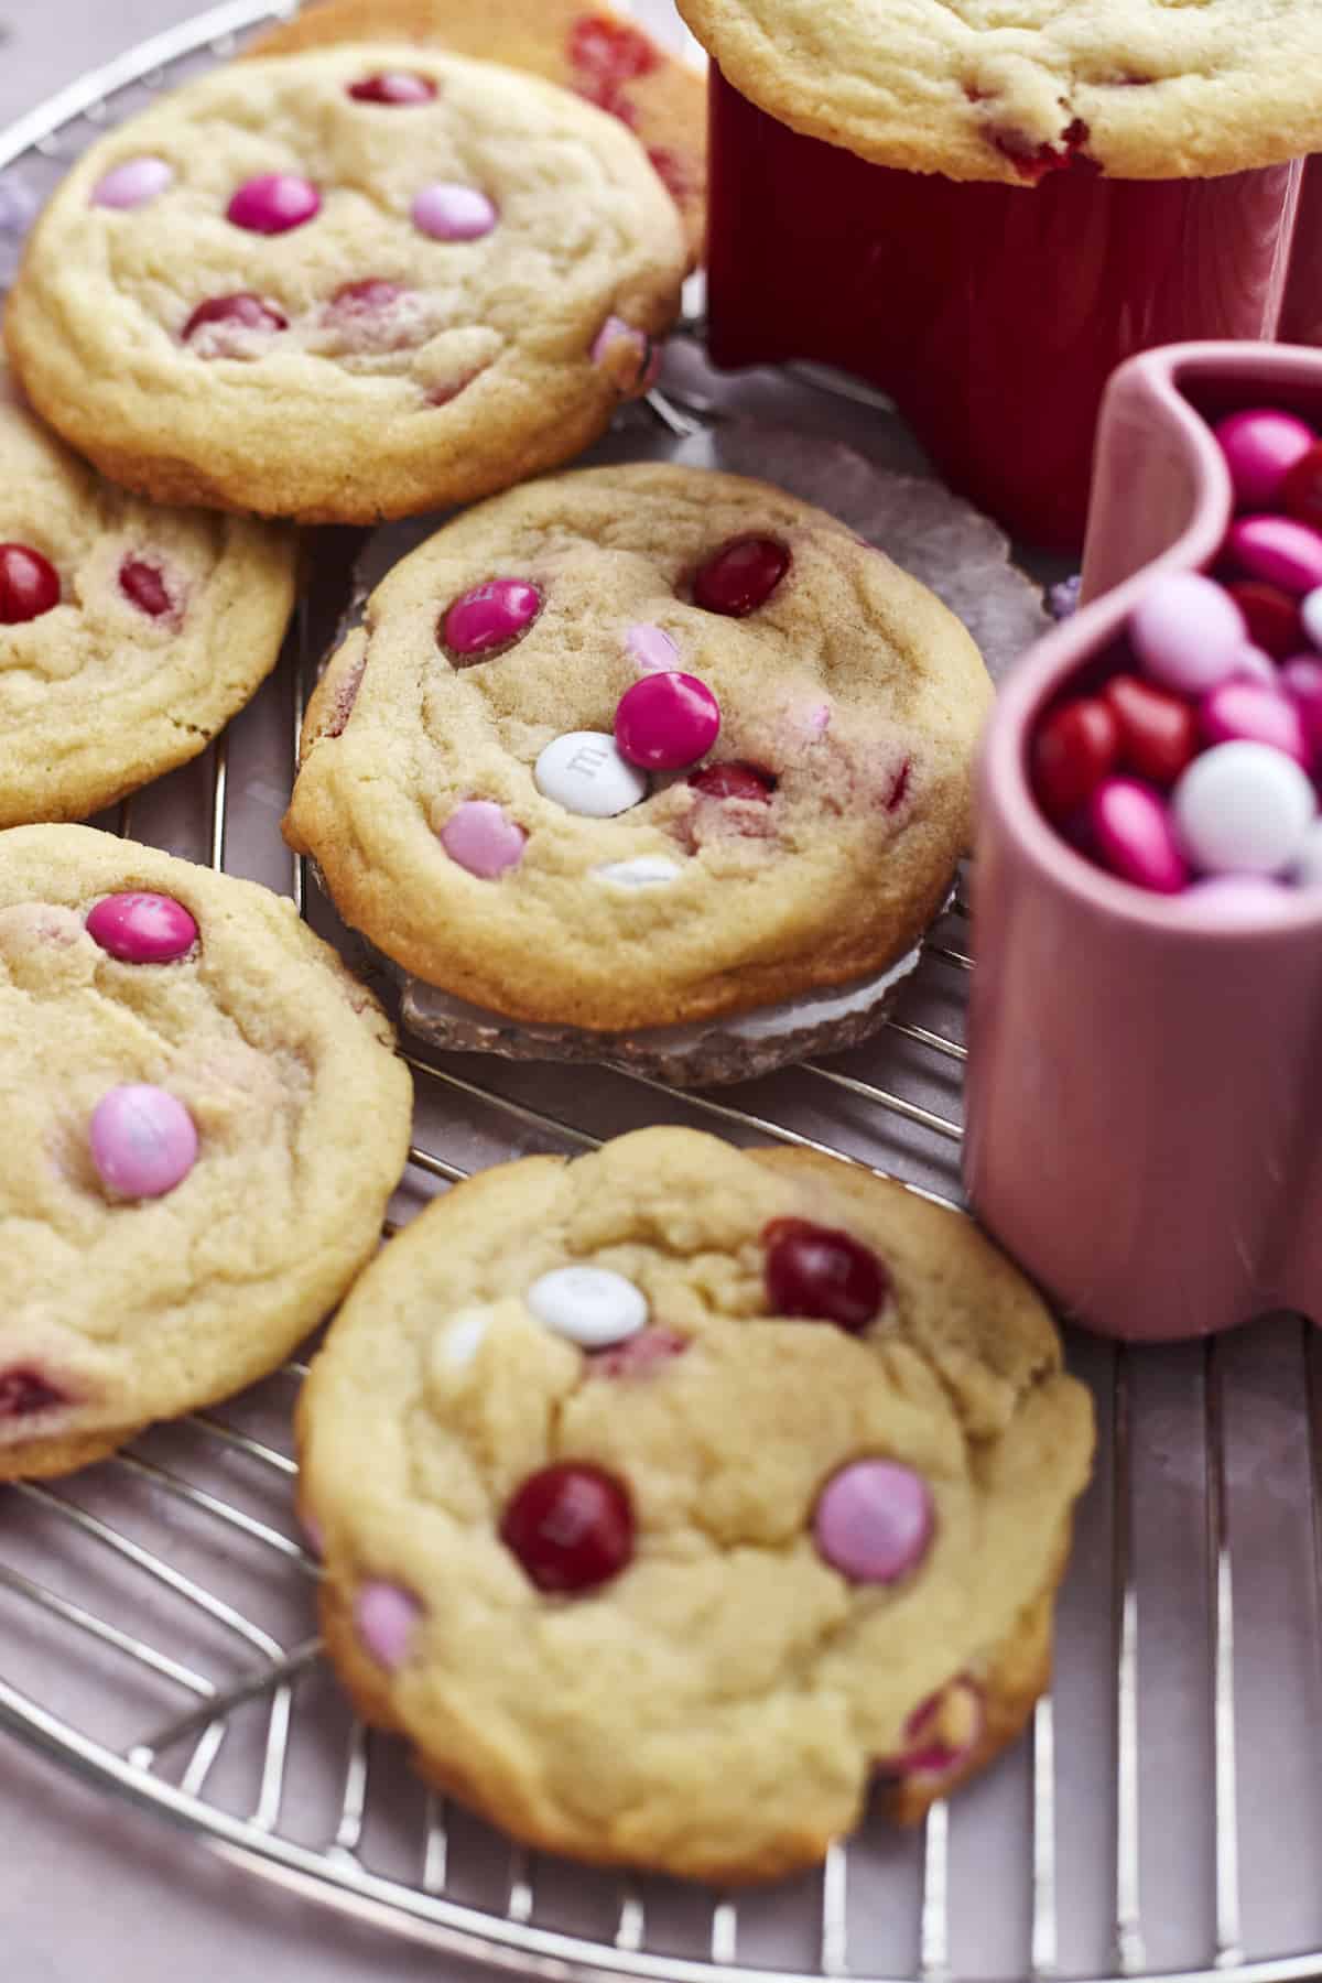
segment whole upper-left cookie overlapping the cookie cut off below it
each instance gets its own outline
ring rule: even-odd
[[[369,524],[597,438],[646,389],[686,260],[618,119],[365,44],[214,69],[93,145],[36,224],[6,337],[115,482]]]

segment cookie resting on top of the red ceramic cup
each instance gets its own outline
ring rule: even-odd
[[[906,173],[1209,178],[1316,151],[1314,0],[678,0],[753,103]]]

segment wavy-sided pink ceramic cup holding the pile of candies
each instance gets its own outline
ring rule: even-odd
[[[1322,353],[1179,345],[1102,407],[1084,609],[1001,690],[979,775],[965,1178],[987,1227],[1092,1329],[1322,1321],[1322,902],[1227,928],[1076,855],[1039,813],[1039,714],[1102,664],[1154,569],[1209,565],[1231,486],[1207,418],[1322,428]],[[1203,416],[1207,414],[1207,418]],[[1114,589],[1108,589],[1114,587]]]

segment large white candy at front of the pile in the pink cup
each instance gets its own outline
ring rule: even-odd
[[[1306,771],[1270,744],[1219,744],[1179,779],[1171,813],[1203,875],[1280,875],[1300,859],[1316,799]]]

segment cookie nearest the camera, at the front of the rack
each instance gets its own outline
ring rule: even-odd
[[[359,1711],[531,1846],[721,1884],[1023,1727],[1092,1454],[969,1220],[680,1128],[432,1204],[297,1426]]]

